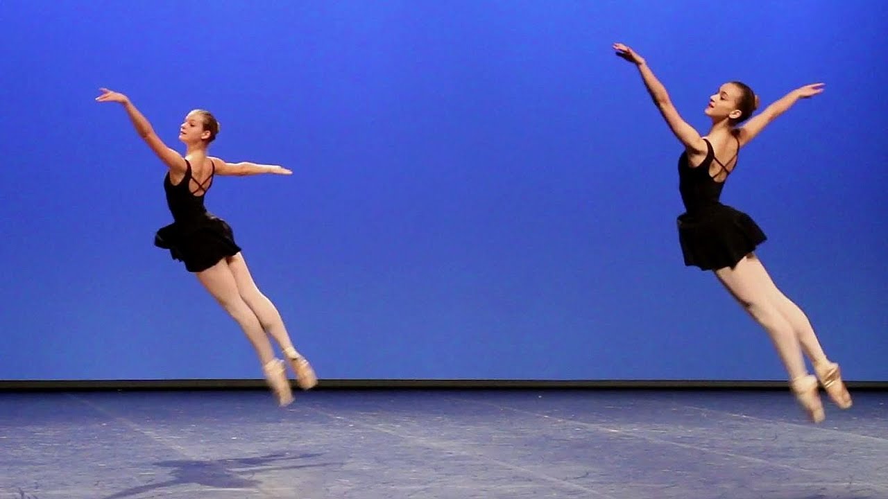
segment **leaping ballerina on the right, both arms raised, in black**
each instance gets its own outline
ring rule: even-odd
[[[706,135],[701,135],[678,115],[644,58],[625,44],[614,44],[613,48],[618,56],[638,67],[654,105],[684,147],[678,159],[678,178],[686,212],[678,217],[678,239],[685,264],[715,273],[767,331],[789,373],[791,390],[813,422],[820,423],[824,418],[818,379],[838,407],[850,408],[851,395],[838,365],[827,358],[805,313],[774,285],[754,252],[765,242],[765,234],[747,214],[719,202],[725,180],[737,166],[741,147],[799,99],[820,94],[823,84],[790,91],[752,117],[758,107],[755,93],[744,83],[725,83],[710,96],[704,113],[712,125]],[[816,377],[808,374],[804,354],[812,361]]]

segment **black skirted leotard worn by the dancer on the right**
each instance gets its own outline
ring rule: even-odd
[[[706,159],[696,168],[688,164],[687,153],[678,160],[678,190],[686,209],[677,220],[678,242],[685,265],[702,270],[733,268],[767,237],[749,215],[718,201],[725,182],[710,177],[710,164],[715,161],[730,170],[715,157],[709,140],[706,147]]]

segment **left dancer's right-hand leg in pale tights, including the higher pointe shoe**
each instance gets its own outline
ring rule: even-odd
[[[297,352],[293,346],[287,327],[284,326],[281,313],[278,312],[277,307],[259,291],[243,255],[238,253],[234,257],[229,257],[227,258],[227,263],[228,268],[231,269],[234,275],[234,281],[237,283],[238,293],[243,301],[250,306],[252,312],[255,313],[262,329],[265,329],[268,335],[273,337],[278,345],[281,345],[281,350],[296,372],[299,386],[305,390],[312,388],[317,383],[317,377],[314,375],[313,369],[309,365],[308,360],[305,360],[305,357]]]

